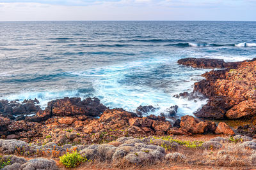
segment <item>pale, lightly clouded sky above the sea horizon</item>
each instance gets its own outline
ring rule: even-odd
[[[0,0],[0,21],[256,20],[256,0]]]

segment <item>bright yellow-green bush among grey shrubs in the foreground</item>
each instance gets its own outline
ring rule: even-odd
[[[72,153],[66,153],[65,155],[60,157],[60,162],[65,167],[77,167],[82,162],[86,162],[86,157],[83,157],[77,151],[73,151]]]

